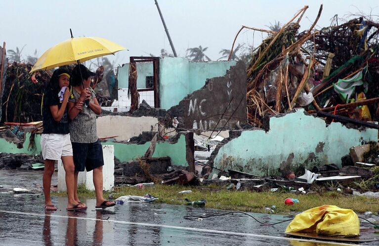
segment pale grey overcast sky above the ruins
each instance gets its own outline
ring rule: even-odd
[[[378,0],[158,0],[178,56],[187,48],[202,45],[217,60],[223,48],[230,49],[242,25],[268,29],[286,23],[297,10],[309,5],[301,29],[307,29],[324,4],[318,26],[329,26],[331,18],[363,12],[378,21]],[[0,45],[24,47],[23,58],[37,49],[38,56],[54,44],[79,36],[97,36],[115,41],[129,51],[120,51],[118,64],[129,56],[159,56],[162,48],[171,53],[154,0],[1,0]],[[340,23],[339,21],[338,23]],[[261,33],[242,32],[237,43],[259,45]],[[110,57],[112,58],[112,57]]]

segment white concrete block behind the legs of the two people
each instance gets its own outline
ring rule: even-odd
[[[103,166],[103,190],[109,191],[115,185],[115,162],[114,162],[114,146],[113,145],[103,145],[103,157],[104,157],[104,166]],[[58,161],[58,191],[67,191],[65,174],[62,161]],[[88,190],[94,191],[95,187],[93,186],[93,174],[92,171],[79,172],[78,184],[85,184],[85,188]]]

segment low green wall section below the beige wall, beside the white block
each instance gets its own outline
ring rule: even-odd
[[[145,144],[127,144],[104,142],[103,145],[113,145],[115,148],[115,157],[120,162],[129,162],[136,160],[138,156],[143,156],[150,146],[150,142]],[[187,166],[186,161],[186,142],[185,136],[180,135],[177,143],[170,144],[168,142],[158,142],[155,146],[153,157],[169,156],[172,165]]]

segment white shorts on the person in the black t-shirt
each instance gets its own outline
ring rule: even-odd
[[[43,160],[60,160],[62,156],[72,156],[69,134],[42,134],[41,149]]]

